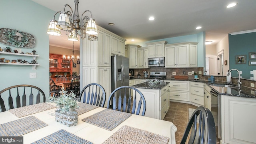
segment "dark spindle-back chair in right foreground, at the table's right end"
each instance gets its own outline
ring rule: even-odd
[[[212,112],[208,108],[203,106],[196,108],[190,117],[180,144],[185,144],[190,130],[188,144],[216,144],[214,119]]]

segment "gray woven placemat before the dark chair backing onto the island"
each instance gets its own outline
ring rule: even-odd
[[[104,128],[110,131],[121,124],[124,120],[129,118],[131,115],[132,114],[126,112],[105,109],[82,119],[82,121],[94,124],[95,126],[99,126],[100,128]]]

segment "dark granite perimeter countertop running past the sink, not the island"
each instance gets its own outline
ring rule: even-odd
[[[208,86],[210,86],[211,88],[212,87],[212,83],[214,84],[225,84],[225,82],[222,82],[222,81],[208,81],[208,80],[192,80],[192,79],[166,79],[166,80],[176,80],[176,81],[190,81],[190,82],[203,82],[203,83],[206,83],[208,84]],[[241,98],[256,98],[256,95],[253,96],[253,95],[250,95],[248,94],[249,92],[240,92],[239,94],[239,90],[238,88],[232,88],[233,90],[237,90],[236,94],[232,93],[232,94],[227,94],[227,93],[222,93],[222,92],[219,92],[218,90],[216,90],[215,88],[213,88],[216,92],[218,92],[220,95],[226,95],[226,96],[238,96],[238,97],[241,97]],[[248,89],[248,90],[254,90],[254,89],[251,89],[251,88],[247,88],[247,87],[243,87],[242,86],[242,90],[243,89]],[[246,91],[248,91],[246,90]],[[254,90],[255,92],[256,90]]]

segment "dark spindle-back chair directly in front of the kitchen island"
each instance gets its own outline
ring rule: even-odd
[[[131,97],[132,90],[135,90],[135,92],[133,92],[133,98]],[[130,86],[121,86],[119,88],[116,88],[108,98],[107,108],[110,108],[110,103],[112,103],[113,110],[116,110],[117,108],[118,111],[132,113],[136,115],[141,114],[142,116],[144,116],[146,112],[146,101],[143,94],[138,89]],[[142,111],[140,110],[141,107]]]

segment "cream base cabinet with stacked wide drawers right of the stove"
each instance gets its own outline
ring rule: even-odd
[[[190,102],[190,82],[189,81],[175,81],[164,80],[170,82],[169,97],[172,101],[186,101]]]

